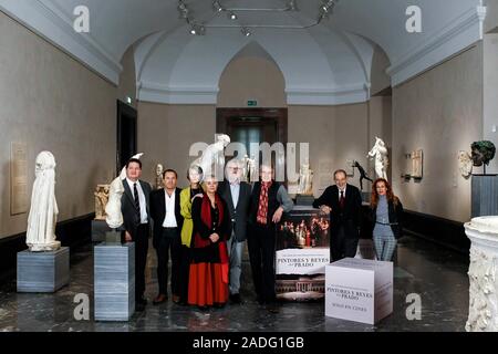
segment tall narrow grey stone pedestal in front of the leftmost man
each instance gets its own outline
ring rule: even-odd
[[[135,243],[95,246],[95,321],[128,321],[135,312]]]

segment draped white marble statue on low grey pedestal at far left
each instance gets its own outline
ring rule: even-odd
[[[55,240],[59,208],[55,200],[55,158],[50,152],[38,155],[25,242],[32,252],[56,251]]]

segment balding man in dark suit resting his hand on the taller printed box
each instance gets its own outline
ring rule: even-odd
[[[314,208],[320,208],[330,215],[331,262],[356,256],[362,212],[360,190],[347,184],[345,170],[336,170],[334,180],[335,186],[326,188],[323,195],[313,202]]]

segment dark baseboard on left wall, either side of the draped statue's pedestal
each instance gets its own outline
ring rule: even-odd
[[[91,223],[95,214],[58,222],[55,235],[62,246],[75,249],[91,242]],[[15,269],[18,252],[25,250],[25,232],[0,239],[0,274]]]

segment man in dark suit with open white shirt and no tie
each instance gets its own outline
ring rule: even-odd
[[[159,294],[154,299],[154,304],[159,304],[168,299],[168,262],[172,253],[172,300],[179,303],[180,282],[188,279],[179,279],[181,257],[181,227],[184,217],[180,214],[180,192],[177,188],[178,174],[173,169],[163,173],[164,189],[154,190],[151,194],[151,216],[154,220],[153,246],[157,252],[157,281]]]

